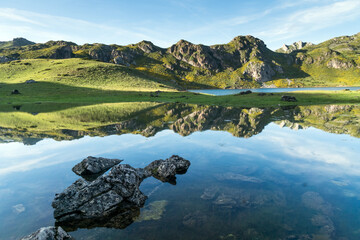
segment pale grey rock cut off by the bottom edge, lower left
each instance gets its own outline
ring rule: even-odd
[[[21,240],[71,240],[72,238],[61,227],[43,227]]]

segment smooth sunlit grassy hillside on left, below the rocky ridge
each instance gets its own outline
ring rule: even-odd
[[[102,90],[174,90],[171,82],[136,69],[93,60],[27,59],[0,64],[0,83],[19,84],[27,80]]]

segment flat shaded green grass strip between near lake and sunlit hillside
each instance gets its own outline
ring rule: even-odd
[[[19,94],[12,94],[18,90]],[[294,96],[296,102],[281,101],[283,95]],[[74,87],[49,82],[33,84],[1,84],[0,107],[24,104],[93,105],[119,102],[189,103],[234,107],[277,107],[288,105],[357,104],[360,91],[297,91],[281,93],[255,93],[213,96],[187,91],[116,91]]]

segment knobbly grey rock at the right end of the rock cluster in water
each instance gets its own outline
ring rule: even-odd
[[[147,175],[151,175],[162,182],[176,184],[175,174],[184,174],[190,166],[190,161],[173,155],[166,160],[156,160],[145,167]]]

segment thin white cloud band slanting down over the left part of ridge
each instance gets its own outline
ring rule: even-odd
[[[79,44],[90,42],[129,44],[150,40],[162,43],[138,31],[108,26],[81,19],[39,14],[18,9],[0,8],[0,39],[26,37],[36,42],[67,40]]]

